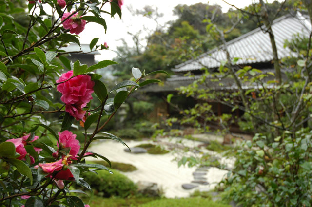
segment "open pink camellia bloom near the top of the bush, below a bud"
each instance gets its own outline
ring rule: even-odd
[[[62,16],[62,21],[64,21],[66,18],[68,18],[72,13],[66,12]],[[83,19],[80,19],[78,16],[78,13],[75,13],[70,18],[66,19],[63,22],[64,29],[69,29],[70,33],[75,33],[76,35],[79,35],[80,32],[84,30],[84,26],[86,25],[86,21]]]

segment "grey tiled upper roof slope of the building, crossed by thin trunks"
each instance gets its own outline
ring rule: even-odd
[[[279,58],[290,55],[288,48],[284,48],[286,39],[291,39],[295,34],[301,34],[309,37],[311,31],[310,21],[302,15],[292,17],[283,16],[273,21],[272,30],[275,37]],[[268,33],[264,33],[260,28],[254,29],[238,38],[227,43],[231,58],[239,57],[236,64],[251,64],[269,62],[273,60],[271,41]],[[172,69],[174,72],[186,72],[199,70],[203,67],[217,68],[221,61],[226,60],[224,45],[210,50],[196,59],[188,60],[182,64],[176,65]]]

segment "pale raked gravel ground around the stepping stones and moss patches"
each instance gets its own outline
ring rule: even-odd
[[[197,147],[203,142],[186,140],[181,138],[161,138],[153,141],[126,141],[130,148],[140,144],[153,143],[159,144],[165,148],[182,148],[181,142],[184,146]],[[177,153],[167,153],[162,155],[152,155],[148,153],[134,154],[125,152],[125,146],[121,143],[105,140],[95,142],[89,148],[90,151],[102,154],[111,161],[129,163],[137,167],[133,172],[121,172],[128,176],[132,181],[148,181],[158,184],[158,187],[163,191],[167,198],[188,197],[190,193],[198,189],[201,191],[208,191],[214,189],[216,184],[221,181],[227,170],[217,168],[198,169],[197,167],[178,167],[177,162],[174,161]],[[205,148],[200,148],[204,153],[215,154]],[[200,154],[198,152],[198,154]],[[218,156],[218,155],[216,155]],[[94,158],[88,158],[94,160]],[[222,159],[222,162],[227,163],[229,167],[233,166],[234,160]],[[200,176],[195,176],[196,173],[202,173]],[[195,181],[200,181],[194,183]],[[183,184],[195,185],[195,188],[184,189]]]

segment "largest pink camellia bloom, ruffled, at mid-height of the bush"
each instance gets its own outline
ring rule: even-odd
[[[68,80],[73,76],[73,71],[68,71],[60,76],[57,83]],[[61,83],[57,90],[62,93],[60,98],[65,104],[87,104],[92,99],[94,82],[89,75],[77,75]]]

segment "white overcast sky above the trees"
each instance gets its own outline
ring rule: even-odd
[[[272,2],[273,0],[268,0]],[[115,18],[110,18],[109,15],[103,16],[107,24],[107,32],[102,26],[95,23],[88,23],[85,27],[85,30],[79,34],[80,42],[89,44],[93,38],[100,38],[98,44],[103,44],[104,41],[107,42],[110,50],[116,50],[117,46],[122,45],[121,38],[124,38],[129,45],[133,45],[132,38],[127,32],[136,34],[138,31],[142,30],[143,34],[141,37],[144,37],[148,32],[144,31],[144,28],[148,30],[153,30],[156,27],[156,23],[142,16],[133,16],[129,11],[129,8],[142,9],[146,5],[153,6],[158,8],[158,12],[163,13],[164,16],[159,19],[159,23],[164,24],[169,20],[174,20],[177,17],[173,15],[173,9],[178,4],[187,4],[192,5],[195,3],[207,3],[207,0],[124,0],[124,5],[122,7],[122,18],[119,19],[118,15],[115,15]],[[243,8],[249,5],[252,0],[227,0],[227,2],[236,5],[239,8]],[[222,7],[223,12],[228,11],[230,8],[229,5],[224,3],[222,0],[210,0],[210,5],[218,4]],[[109,6],[109,5],[107,5]],[[109,8],[106,8],[109,10]],[[143,42],[144,43],[144,42]],[[101,56],[97,56],[96,59],[112,59],[117,56],[113,51],[103,51]]]

